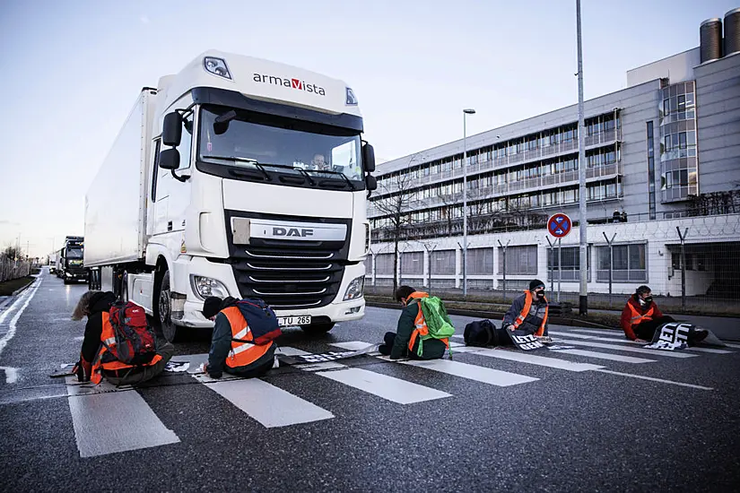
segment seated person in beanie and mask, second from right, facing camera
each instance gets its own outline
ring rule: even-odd
[[[503,316],[504,329],[524,331],[535,335],[542,342],[550,342],[547,335],[547,313],[549,304],[544,297],[544,282],[535,279],[529,283],[529,290],[514,298],[509,311]]]

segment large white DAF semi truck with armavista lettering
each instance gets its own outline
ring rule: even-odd
[[[208,51],[145,87],[85,196],[91,289],[169,341],[208,296],[263,298],[283,326],[364,316],[372,146],[344,82]]]

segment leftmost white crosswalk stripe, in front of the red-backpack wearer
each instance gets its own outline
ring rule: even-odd
[[[76,378],[67,376],[66,380],[73,383]],[[135,390],[87,394],[89,392],[79,385],[67,385],[67,401],[80,457],[115,454],[180,441]],[[136,433],[130,432],[133,429]]]

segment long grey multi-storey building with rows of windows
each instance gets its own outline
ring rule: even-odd
[[[626,89],[585,101],[589,292],[707,296],[740,281],[740,52],[728,46],[633,69]],[[558,248],[545,228],[555,212],[579,221],[578,131],[573,105],[467,137],[465,163],[459,140],[380,164],[366,284],[393,284],[398,238],[398,281],[461,287],[465,173],[468,288],[537,277],[578,291],[578,229]]]

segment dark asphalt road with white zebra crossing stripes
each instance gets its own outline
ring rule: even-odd
[[[69,315],[86,289],[45,271],[0,312],[0,490],[740,488],[740,346],[675,357],[553,327],[570,352],[462,349],[431,368],[365,355],[84,394],[48,374],[77,359],[84,323]],[[369,308],[316,337],[289,329],[280,345],[361,347],[398,313]],[[459,333],[469,320],[453,317]],[[195,365],[208,347],[208,331],[190,333],[173,360]]]

